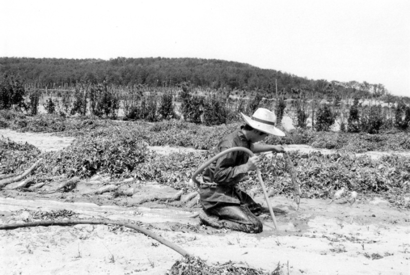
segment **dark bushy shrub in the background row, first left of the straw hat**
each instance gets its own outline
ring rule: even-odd
[[[227,122],[227,108],[222,96],[211,95],[203,104],[203,124],[219,125]]]

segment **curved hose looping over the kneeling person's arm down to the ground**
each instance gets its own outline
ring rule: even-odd
[[[254,154],[251,150],[249,150],[248,148],[243,148],[243,147],[232,147],[232,148],[229,148],[229,149],[227,149],[227,150],[224,150],[224,151],[222,151],[222,152],[216,154],[213,158],[209,159],[209,160],[206,161],[204,164],[202,164],[202,165],[198,168],[198,170],[196,170],[195,173],[192,175],[191,180],[192,180],[194,183],[196,183],[196,185],[197,185],[198,188],[199,188],[200,183],[197,181],[196,176],[197,176],[198,174],[202,173],[203,170],[205,170],[205,168],[207,168],[211,163],[213,163],[214,161],[216,161],[217,159],[219,159],[222,155],[226,155],[226,154],[228,154],[228,153],[230,153],[230,152],[234,152],[234,151],[242,151],[242,152],[248,153],[251,157],[255,155],[255,154]],[[272,220],[273,220],[273,224],[275,225],[275,229],[278,230],[278,224],[276,223],[275,214],[273,213],[273,209],[272,209],[272,206],[271,206],[271,202],[269,201],[268,193],[266,192],[266,187],[265,187],[265,184],[263,183],[262,175],[261,175],[261,173],[260,173],[259,168],[256,169],[256,173],[258,174],[259,183],[260,183],[260,186],[262,187],[263,195],[264,195],[265,200],[266,200],[266,202],[267,202],[267,204],[268,204],[268,208],[269,208],[269,212],[271,213],[271,217],[272,217]]]

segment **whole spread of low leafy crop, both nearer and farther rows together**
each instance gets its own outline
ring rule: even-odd
[[[25,121],[27,126],[19,130],[53,131],[52,123],[55,126],[65,125],[61,134],[77,136],[76,142],[63,151],[43,153],[44,162],[38,167],[38,174],[88,178],[96,172],[108,173],[118,178],[134,176],[143,181],[157,181],[183,190],[190,188],[184,181],[189,180],[197,167],[208,158],[208,152],[164,156],[149,152],[147,144],[209,150],[239,126],[207,127],[178,120],[165,120],[153,125],[144,121],[119,123],[98,120],[95,116],[65,120],[57,115],[26,117],[4,110],[0,111],[0,119],[13,125]],[[396,205],[403,206],[403,196],[410,193],[407,184],[410,181],[408,158],[385,156],[372,160],[352,155],[352,152],[359,150],[410,150],[410,138],[405,132],[368,135],[299,129],[287,132],[283,138],[270,136],[267,143],[310,144],[339,150],[330,155],[288,152],[304,198],[332,197],[334,191],[345,187],[363,194],[378,193],[389,200],[393,198]],[[39,156],[40,152],[31,145],[0,140],[0,173],[27,169]],[[277,193],[291,197],[293,184],[283,158],[277,156],[270,159],[261,155],[260,159],[265,184],[275,188]],[[255,174],[251,173],[251,181],[247,184],[252,188],[259,186]]]

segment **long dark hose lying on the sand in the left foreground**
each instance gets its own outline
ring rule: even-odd
[[[120,225],[120,226],[125,226],[131,229],[134,229],[142,234],[147,235],[148,237],[151,237],[152,239],[160,242],[163,245],[168,246],[169,248],[174,249],[176,252],[181,254],[183,257],[185,256],[192,256],[190,253],[187,251],[183,250],[181,247],[171,243],[170,241],[159,237],[157,234],[145,229],[141,228],[139,226],[129,224],[129,223],[124,223],[124,222],[116,222],[116,221],[110,221],[110,220],[67,220],[67,221],[39,221],[39,222],[31,222],[31,223],[20,223],[20,224],[6,224],[6,225],[0,225],[0,230],[7,230],[7,229],[16,229],[20,227],[33,227],[33,226],[50,226],[50,225],[76,225],[76,224],[105,224],[105,225]]]

